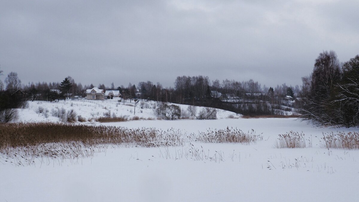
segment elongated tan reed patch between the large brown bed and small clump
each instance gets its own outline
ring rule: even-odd
[[[220,129],[220,130],[211,130],[208,129],[207,132],[200,132],[197,136],[195,134],[190,135],[191,139],[200,142],[210,142],[210,143],[242,143],[250,144],[256,143],[258,140],[263,140],[261,135],[256,135],[255,131],[252,129],[248,133],[243,132],[237,128]]]

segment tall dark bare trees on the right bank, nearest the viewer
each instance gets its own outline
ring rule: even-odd
[[[340,63],[334,51],[324,51],[302,81],[303,118],[318,125],[359,125],[359,55]]]

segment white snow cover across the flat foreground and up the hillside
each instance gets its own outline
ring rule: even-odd
[[[32,102],[21,111],[20,120],[58,121],[51,112],[48,118],[34,112],[38,106],[51,111],[56,105],[76,109],[86,118],[106,110],[130,115],[133,108],[116,108],[116,101],[111,100],[74,101],[73,106],[71,101]],[[155,117],[151,110],[143,109],[138,116]],[[174,128],[183,134],[233,127],[254,129],[256,134],[262,133],[263,140],[249,145],[188,142],[181,147],[109,146],[93,158],[38,160],[32,166],[14,166],[2,160],[0,201],[358,201],[359,151],[320,147],[322,132],[358,128],[317,128],[294,118],[228,119],[230,114],[220,111],[218,120],[91,124]],[[291,130],[311,137],[313,147],[274,148],[278,135]]]

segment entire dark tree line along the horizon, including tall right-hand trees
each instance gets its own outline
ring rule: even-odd
[[[0,70],[2,75],[3,71]],[[173,87],[163,87],[159,82],[129,83],[111,87],[99,84],[99,89],[116,89],[124,99],[144,98],[157,102],[173,102],[196,106],[209,106],[248,114],[272,114],[283,105],[300,109],[302,118],[318,125],[359,125],[359,55],[345,63],[337,59],[334,51],[323,51],[315,60],[313,72],[302,77],[302,86],[285,83],[273,87],[261,85],[252,79],[235,81],[218,79],[211,81],[207,76],[178,76]],[[68,76],[62,82],[38,82],[22,84],[17,73],[10,72],[0,80],[2,95],[22,90],[27,99],[48,100],[85,96],[85,90],[95,87],[82,85]],[[62,91],[59,95],[53,89]],[[52,90],[52,91],[51,91]],[[220,95],[220,96],[219,96]],[[295,99],[297,98],[297,99]],[[8,99],[8,98],[6,98]],[[8,99],[9,100],[9,99]],[[290,102],[289,102],[290,100]],[[4,105],[2,106],[4,108]]]

